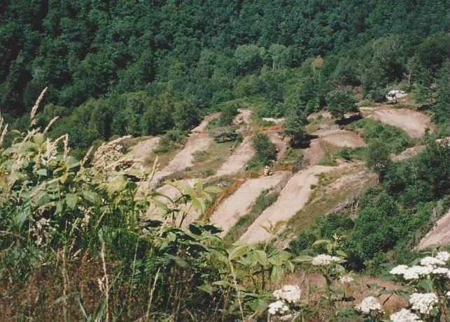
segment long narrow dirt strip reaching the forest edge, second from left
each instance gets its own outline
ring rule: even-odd
[[[192,154],[197,151],[206,150],[213,142],[213,138],[206,131],[206,126],[216,117],[218,117],[218,113],[208,115],[199,126],[192,130],[183,149],[174,156],[174,159],[172,159],[165,168],[155,173],[152,182],[149,184],[150,186],[153,186],[153,184],[157,183],[163,177],[171,175],[171,173],[192,166],[194,161],[194,156]]]

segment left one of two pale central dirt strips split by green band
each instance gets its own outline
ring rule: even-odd
[[[213,224],[223,229],[220,235],[225,236],[239,218],[248,213],[260,193],[278,184],[284,173],[277,172],[269,177],[247,180],[232,196],[225,199],[210,218]]]

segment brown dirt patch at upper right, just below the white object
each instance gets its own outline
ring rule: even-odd
[[[426,128],[435,129],[428,115],[407,108],[382,108],[379,110],[365,108],[362,111],[363,115],[367,117],[397,126],[412,138],[421,138]]]

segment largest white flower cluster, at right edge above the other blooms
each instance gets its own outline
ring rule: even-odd
[[[440,251],[435,257],[427,256],[421,259],[421,265],[414,265],[408,267],[407,265],[398,265],[391,270],[392,275],[401,275],[404,279],[420,279],[421,277],[428,277],[429,275],[437,275],[438,277],[450,278],[450,270],[441,267],[446,265],[450,260],[448,251]]]

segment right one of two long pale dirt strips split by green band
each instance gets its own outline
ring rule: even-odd
[[[256,244],[270,239],[271,235],[262,228],[277,221],[288,221],[298,210],[302,209],[311,196],[311,184],[317,184],[319,173],[326,173],[336,167],[311,166],[295,174],[283,190],[276,202],[268,207],[239,239],[247,244]]]

